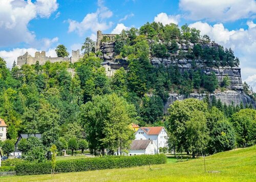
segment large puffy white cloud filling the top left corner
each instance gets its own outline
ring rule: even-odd
[[[0,47],[34,42],[35,34],[28,30],[28,23],[38,16],[48,18],[57,8],[56,0],[0,1]]]

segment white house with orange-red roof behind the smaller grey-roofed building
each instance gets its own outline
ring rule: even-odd
[[[135,140],[153,140],[158,152],[160,147],[167,147],[167,132],[163,126],[140,127],[135,133]]]

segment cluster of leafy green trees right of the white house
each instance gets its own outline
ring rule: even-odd
[[[195,157],[255,144],[256,111],[243,105],[227,107],[219,100],[189,98],[175,101],[168,113],[165,126],[174,152],[185,150]]]

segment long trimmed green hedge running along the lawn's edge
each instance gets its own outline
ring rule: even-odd
[[[101,169],[126,168],[152,164],[164,164],[167,158],[164,154],[134,155],[134,156],[106,156],[88,159],[57,161],[55,172],[78,172]],[[17,175],[50,174],[51,162],[22,163],[15,168]]]

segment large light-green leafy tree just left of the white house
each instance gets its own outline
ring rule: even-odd
[[[125,149],[133,139],[131,123],[136,123],[136,111],[116,94],[95,96],[82,106],[82,124],[86,129],[91,153],[104,155],[104,149]],[[130,146],[129,146],[130,147]]]

